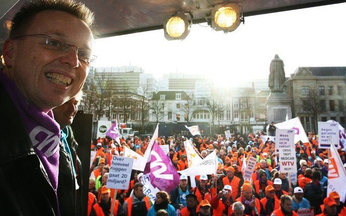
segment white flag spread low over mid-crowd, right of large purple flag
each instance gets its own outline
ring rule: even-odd
[[[178,171],[180,174],[185,174],[187,176],[195,176],[201,174],[216,174],[216,168],[218,166],[218,161],[216,157],[216,151],[214,150],[207,157],[205,157],[197,167],[190,167],[186,170]]]

